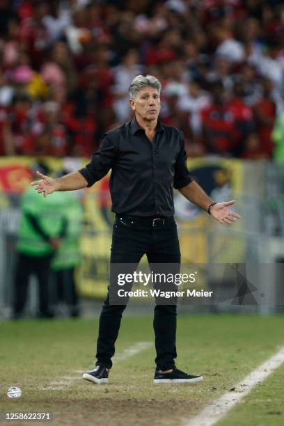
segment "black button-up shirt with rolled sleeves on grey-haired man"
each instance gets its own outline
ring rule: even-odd
[[[104,134],[79,172],[90,187],[110,169],[111,210],[129,216],[173,215],[173,188],[192,180],[182,132],[158,122],[151,143],[136,118]]]

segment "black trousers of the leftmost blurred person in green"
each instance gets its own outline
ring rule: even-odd
[[[36,276],[39,288],[39,313],[49,315],[49,270],[51,255],[41,257],[18,253],[14,286],[14,314],[20,315],[26,305],[26,295],[31,275]]]

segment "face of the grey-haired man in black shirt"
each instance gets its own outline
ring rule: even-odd
[[[130,100],[130,107],[137,117],[145,121],[157,120],[161,109],[161,100],[157,89],[147,86],[139,90],[135,100]]]

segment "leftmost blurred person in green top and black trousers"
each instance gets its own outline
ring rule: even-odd
[[[39,166],[37,165],[37,168]],[[47,166],[40,164],[42,171]],[[29,186],[20,201],[21,220],[17,241],[13,318],[19,319],[26,306],[29,278],[36,276],[39,289],[37,316],[54,317],[49,308],[49,272],[52,258],[66,231],[66,219],[62,213],[61,195],[54,194],[49,202]]]

